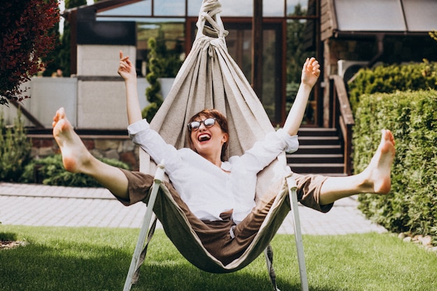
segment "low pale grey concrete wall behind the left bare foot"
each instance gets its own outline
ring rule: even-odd
[[[163,96],[168,94],[171,85],[172,79],[163,80]],[[46,128],[52,127],[56,110],[64,107],[75,128],[126,129],[126,92],[121,77],[120,80],[108,81],[34,77],[23,86],[29,88],[26,94],[31,96],[22,101],[23,107]],[[138,98],[142,108],[149,104],[145,96],[148,86],[144,77],[138,79]],[[15,107],[11,104],[1,106],[0,111],[7,123],[13,124],[17,116]],[[33,124],[26,121],[26,126]]]

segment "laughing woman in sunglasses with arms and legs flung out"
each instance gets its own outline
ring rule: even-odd
[[[274,200],[272,195],[255,206],[256,174],[284,149],[297,150],[297,130],[311,89],[320,75],[318,61],[306,59],[299,91],[283,128],[229,161],[222,159],[229,135],[220,112],[203,110],[195,114],[187,125],[191,149],[177,150],[166,144],[142,119],[135,68],[122,52],[118,72],[126,85],[128,133],[133,142],[145,149],[154,161],[165,159],[165,171],[175,187],[168,185],[170,192],[202,244],[223,264],[232,262],[249,246]],[[66,170],[89,174],[126,205],[147,200],[153,177],[112,167],[91,156],[63,109],[54,117],[53,127]],[[342,197],[388,193],[393,159],[393,135],[383,130],[376,154],[362,173],[350,177],[295,174],[298,199],[306,206],[326,212]],[[164,214],[157,212],[156,215],[159,218]]]

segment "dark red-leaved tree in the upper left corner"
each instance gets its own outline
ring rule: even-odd
[[[58,0],[8,0],[0,6],[0,105],[21,101],[20,85],[43,69],[40,58],[58,39]]]

